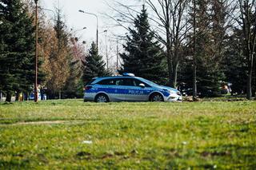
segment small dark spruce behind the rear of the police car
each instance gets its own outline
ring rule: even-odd
[[[106,63],[102,60],[102,56],[98,54],[97,46],[92,42],[89,54],[83,62],[84,71],[82,79],[84,82],[90,81],[93,77],[104,77],[110,75],[106,71]]]

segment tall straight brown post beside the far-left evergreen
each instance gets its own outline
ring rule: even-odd
[[[38,102],[38,0],[35,3],[35,79],[34,79],[34,102]]]

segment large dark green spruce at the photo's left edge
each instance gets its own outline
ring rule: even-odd
[[[20,0],[0,1],[0,89],[28,91],[34,82],[34,26]]]

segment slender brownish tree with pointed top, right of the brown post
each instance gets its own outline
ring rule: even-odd
[[[54,30],[48,28],[45,32],[45,39],[42,48],[46,48],[45,68],[47,74],[46,87],[50,98],[54,98],[58,93],[58,98],[62,97],[62,90],[70,76],[70,45],[69,34],[66,25],[62,21],[61,10],[57,9],[57,19],[54,23]]]

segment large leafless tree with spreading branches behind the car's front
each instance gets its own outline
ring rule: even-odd
[[[169,83],[177,85],[178,64],[181,59],[182,45],[186,45],[186,35],[190,30],[188,6],[190,0],[148,0],[146,3],[154,10],[157,19],[154,21],[162,26],[165,38],[157,35],[159,41],[166,46],[166,58],[169,72]],[[159,8],[158,8],[159,6]]]

